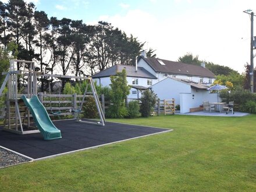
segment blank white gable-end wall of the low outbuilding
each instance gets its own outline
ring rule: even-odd
[[[157,84],[154,84],[152,90],[159,99],[175,99],[175,104],[180,103],[180,93],[191,93],[191,88],[188,84],[166,78]]]

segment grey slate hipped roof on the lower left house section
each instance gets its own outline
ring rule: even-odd
[[[93,78],[98,77],[109,77],[112,75],[116,75],[117,72],[122,72],[122,70],[126,70],[126,76],[127,77],[141,77],[141,78],[147,78],[147,79],[157,79],[153,74],[145,70],[143,67],[138,67],[138,70],[136,72],[136,67],[131,65],[114,65],[112,67],[109,67],[105,70],[102,70],[99,73],[94,74]]]

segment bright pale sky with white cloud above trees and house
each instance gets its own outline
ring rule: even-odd
[[[145,42],[144,49],[155,49],[161,59],[177,61],[191,53],[239,73],[250,63],[250,16],[243,11],[256,12],[255,0],[26,1],[48,17],[109,22]]]

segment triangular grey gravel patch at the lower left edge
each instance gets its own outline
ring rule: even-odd
[[[16,165],[17,163],[27,162],[30,159],[21,157],[13,152],[0,148],[0,168],[10,165]]]

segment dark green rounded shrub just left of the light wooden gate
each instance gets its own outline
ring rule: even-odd
[[[140,101],[141,116],[148,118],[150,113],[154,111],[155,102],[157,102],[157,95],[154,94],[153,91],[145,90]]]

